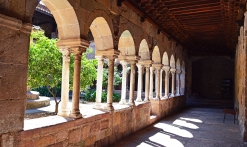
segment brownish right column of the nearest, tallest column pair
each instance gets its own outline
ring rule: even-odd
[[[81,118],[82,115],[79,110],[80,101],[80,73],[81,73],[81,56],[85,51],[85,48],[75,47],[72,48],[74,54],[74,79],[73,79],[73,96],[72,96],[72,108],[69,114],[72,118]]]

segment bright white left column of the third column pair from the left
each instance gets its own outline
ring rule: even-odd
[[[119,104],[126,104],[126,82],[127,82],[127,61],[120,61],[120,63],[123,66],[123,71],[122,71],[122,91],[121,91],[121,101]]]

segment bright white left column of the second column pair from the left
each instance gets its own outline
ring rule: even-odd
[[[97,85],[96,85],[96,102],[93,108],[101,108],[101,96],[102,96],[102,82],[103,82],[103,66],[104,66],[104,57],[95,56],[98,59],[98,69],[97,69]]]

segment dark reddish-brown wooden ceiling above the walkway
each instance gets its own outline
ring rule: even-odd
[[[234,55],[246,7],[246,0],[125,0],[124,3],[190,53],[200,55]]]

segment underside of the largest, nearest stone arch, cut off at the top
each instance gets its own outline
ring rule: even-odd
[[[74,8],[67,0],[42,0],[57,22],[60,40],[79,39],[80,28]]]

